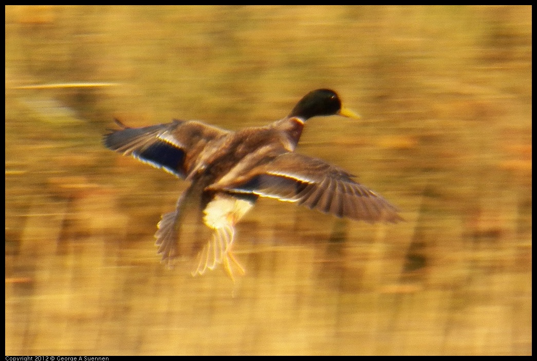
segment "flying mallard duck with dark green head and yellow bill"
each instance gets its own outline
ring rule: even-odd
[[[107,148],[191,182],[173,212],[157,225],[156,246],[162,261],[178,255],[180,220],[186,199],[197,199],[200,217],[212,230],[198,254],[192,275],[223,264],[234,279],[231,264],[235,225],[259,197],[296,203],[338,217],[395,223],[402,218],[395,206],[355,182],[345,170],[323,160],[295,153],[306,121],[341,115],[359,118],[342,106],[335,91],[309,92],[287,117],[262,127],[233,132],[195,120],[121,129],[104,136]]]

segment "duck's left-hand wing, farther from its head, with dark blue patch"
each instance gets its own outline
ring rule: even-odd
[[[116,122],[122,129],[104,136],[108,149],[131,155],[180,178],[185,178],[190,167],[185,163],[186,158],[197,158],[208,142],[230,133],[195,120],[173,120],[143,128]]]

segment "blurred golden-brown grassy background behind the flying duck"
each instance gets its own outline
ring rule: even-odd
[[[6,6],[6,355],[531,355],[531,6]],[[192,278],[153,234],[186,183],[104,148],[238,129],[336,90],[298,151],[400,207],[261,199],[246,268]]]

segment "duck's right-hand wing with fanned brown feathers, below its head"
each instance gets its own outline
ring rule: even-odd
[[[241,177],[240,183],[231,181],[212,188],[290,201],[338,217],[371,223],[402,220],[395,206],[353,181],[352,177],[335,165],[291,152],[252,169],[248,176]]]

